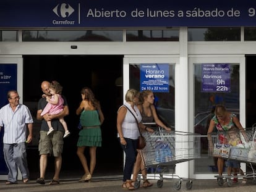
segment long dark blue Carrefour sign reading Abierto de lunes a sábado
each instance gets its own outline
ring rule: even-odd
[[[255,21],[252,0],[0,2],[0,27],[251,27]]]

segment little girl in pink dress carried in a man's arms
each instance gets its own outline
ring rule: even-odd
[[[41,112],[41,116],[45,114],[50,114],[50,115],[59,114],[60,112],[63,111],[64,101],[63,101],[63,98],[61,97],[62,86],[57,81],[53,81],[53,83],[49,85],[49,91],[51,93],[51,98],[46,97],[46,101],[48,103],[46,104],[45,109],[43,109],[43,111]],[[46,95],[43,94],[43,97],[45,96]],[[59,119],[59,122],[61,122],[61,124],[64,127],[65,133],[63,137],[66,138],[70,134],[69,130],[67,129],[67,123],[65,122],[63,117]],[[48,120],[47,124],[49,127],[49,131],[47,132],[47,135],[49,135],[54,131],[54,128],[51,125],[51,120]]]

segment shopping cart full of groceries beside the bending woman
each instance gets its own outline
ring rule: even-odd
[[[232,140],[237,140],[236,146],[229,144],[231,142],[231,136],[229,131],[219,131],[213,133],[209,140],[209,154],[213,157],[222,157],[223,159],[233,159],[237,162],[245,162],[252,170],[252,173],[244,173],[244,175],[227,175],[223,174],[222,177],[215,175],[218,181],[218,185],[224,184],[223,179],[226,179],[228,186],[232,186],[233,178],[252,178],[252,181],[256,183],[256,173],[254,166],[256,164],[256,131],[255,127],[245,128],[244,130],[237,130],[232,134]],[[209,137],[208,137],[209,138]]]

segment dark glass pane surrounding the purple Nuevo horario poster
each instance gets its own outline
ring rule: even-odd
[[[201,159],[195,159],[195,173],[218,173],[216,159],[208,156],[208,124],[216,104],[224,104],[228,111],[239,117],[239,64],[228,64],[230,92],[202,92],[203,64],[194,64],[194,133],[200,133]],[[225,170],[226,171],[226,170]]]

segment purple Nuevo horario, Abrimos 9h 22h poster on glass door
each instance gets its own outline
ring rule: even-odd
[[[231,92],[229,64],[202,64],[202,92]]]

